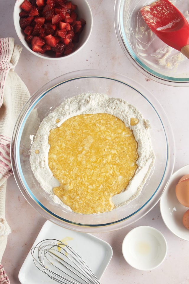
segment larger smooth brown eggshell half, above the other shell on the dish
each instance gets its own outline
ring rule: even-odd
[[[178,183],[175,188],[175,193],[178,201],[182,205],[189,207],[189,180],[183,180]]]

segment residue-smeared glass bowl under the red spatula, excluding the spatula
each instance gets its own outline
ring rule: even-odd
[[[140,8],[150,0],[116,0],[114,24],[119,44],[132,64],[145,76],[171,86],[189,85],[188,59],[161,41],[144,22]],[[189,21],[189,2],[171,1]]]

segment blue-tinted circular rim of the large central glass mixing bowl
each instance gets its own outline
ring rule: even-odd
[[[48,93],[49,91],[53,90],[54,88],[56,88],[57,86],[59,85],[62,85],[64,83],[67,83],[67,82],[70,82],[70,81],[73,81],[73,80],[77,80],[77,79],[82,79],[82,78],[104,78],[104,79],[109,79],[109,80],[113,80],[113,81],[117,81],[119,83],[122,83],[126,86],[128,86],[129,88],[132,88],[133,90],[135,90],[136,92],[138,92],[141,96],[143,96],[148,102],[149,104],[152,106],[152,108],[154,109],[154,111],[156,112],[156,114],[158,115],[159,117],[159,120],[161,121],[161,124],[162,124],[162,127],[163,127],[163,130],[164,130],[164,134],[165,134],[165,138],[166,138],[166,148],[167,148],[167,157],[166,157],[166,165],[165,165],[165,169],[164,169],[164,173],[162,175],[162,179],[160,180],[159,182],[159,185],[157,186],[157,189],[154,191],[154,193],[152,194],[152,196],[148,199],[148,201],[146,201],[145,204],[143,204],[139,209],[137,209],[135,212],[133,212],[132,214],[128,215],[127,217],[125,218],[122,218],[120,220],[117,220],[117,221],[114,221],[114,222],[110,222],[110,223],[105,223],[105,224],[82,224],[82,223],[78,223],[78,222],[73,222],[73,221],[69,221],[67,219],[64,219],[63,217],[60,217],[58,216],[57,214],[51,212],[49,209],[47,209],[43,204],[40,203],[40,201],[38,201],[38,199],[35,197],[35,195],[32,193],[32,191],[30,190],[29,186],[27,185],[27,182],[24,178],[24,175],[23,175],[23,172],[22,172],[22,167],[21,167],[21,164],[20,164],[20,154],[19,154],[19,145],[20,145],[20,140],[21,140],[21,136],[22,136],[22,130],[24,128],[24,125],[25,125],[25,121],[27,120],[27,117],[28,115],[30,114],[30,112],[32,111],[32,109],[36,106],[36,104],[38,103],[38,101],[40,101],[43,96],[45,96],[46,93]],[[105,227],[105,226],[109,226],[109,225],[113,225],[113,224],[118,224],[120,222],[123,222],[124,220],[127,220],[129,219],[130,217],[134,216],[137,212],[141,211],[141,209],[143,209],[148,203],[149,201],[151,201],[151,199],[153,198],[153,196],[157,193],[161,183],[162,183],[162,180],[164,178],[164,175],[165,175],[165,172],[167,170],[167,163],[168,163],[168,153],[169,153],[169,148],[168,148],[168,141],[167,141],[167,135],[166,135],[166,132],[165,132],[165,128],[164,128],[164,125],[162,123],[162,120],[158,114],[158,112],[156,111],[156,109],[154,108],[154,106],[151,104],[151,102],[139,91],[137,90],[136,88],[132,87],[131,85],[121,81],[121,80],[118,80],[118,79],[115,79],[115,78],[110,78],[110,77],[105,77],[105,76],[79,76],[79,77],[75,77],[75,78],[72,78],[72,79],[69,79],[69,80],[65,80],[61,83],[58,83],[56,85],[53,85],[53,87],[51,88],[48,88],[48,90],[46,90],[44,93],[41,94],[40,97],[38,97],[35,101],[33,101],[32,105],[30,106],[30,108],[28,109],[28,111],[25,113],[25,116],[24,118],[22,119],[22,122],[21,122],[21,125],[19,126],[19,133],[18,133],[18,136],[17,136],[17,142],[16,142],[16,157],[17,157],[17,166],[18,166],[18,169],[19,169],[19,175],[22,179],[22,182],[23,184],[25,185],[25,188],[27,189],[27,192],[28,194],[32,197],[32,199],[45,211],[47,212],[48,214],[50,214],[51,216],[55,217],[56,219],[58,220],[61,220],[63,222],[66,222],[66,223],[69,223],[69,224],[72,224],[72,225],[79,225],[79,226],[83,226],[83,227]],[[103,213],[102,213],[103,214]]]

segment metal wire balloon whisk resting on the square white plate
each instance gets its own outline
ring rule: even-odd
[[[57,283],[100,284],[84,260],[65,243],[46,239],[31,249],[38,269]]]

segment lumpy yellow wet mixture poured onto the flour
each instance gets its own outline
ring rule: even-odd
[[[110,114],[80,114],[50,130],[48,142],[48,165],[60,182],[54,194],[76,213],[111,211],[111,197],[137,168],[132,130]]]

